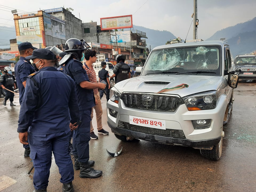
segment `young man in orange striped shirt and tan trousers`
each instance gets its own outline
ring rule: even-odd
[[[91,83],[97,83],[96,73],[95,73],[94,68],[93,68],[93,63],[95,63],[96,59],[97,59],[96,51],[86,50],[84,54],[85,54],[85,59],[86,59],[86,63],[84,65],[84,68],[85,68],[86,73],[88,75],[89,81]],[[93,94],[94,94],[94,97],[95,97],[95,104],[96,105],[91,110],[91,119],[93,119],[93,109],[94,109],[95,113],[96,113],[98,134],[107,135],[107,134],[109,134],[109,132],[105,131],[102,128],[102,106],[101,106],[101,98],[99,97],[98,89],[93,89]],[[93,128],[92,122],[91,122],[90,136],[91,136],[91,139],[98,139],[98,136],[95,135],[95,133],[94,133],[94,128]]]

